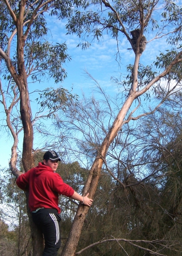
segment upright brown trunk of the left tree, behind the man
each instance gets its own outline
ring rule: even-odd
[[[17,66],[18,71],[11,63],[10,56],[5,55],[5,61],[7,68],[9,69],[11,76],[13,77],[16,85],[18,86],[20,93],[20,117],[22,120],[24,137],[23,137],[23,152],[22,152],[22,163],[24,172],[27,172],[32,167],[34,167],[34,157],[32,154],[33,142],[34,142],[34,131],[31,122],[31,108],[30,108],[30,98],[28,94],[28,84],[27,84],[27,73],[24,66],[24,44],[26,38],[23,36],[23,15],[24,15],[24,5],[26,1],[20,1],[20,13],[18,18],[14,18],[17,29]],[[15,144],[17,147],[17,143]],[[17,153],[14,148],[13,158],[11,159],[11,171],[17,176],[16,169],[16,159]],[[27,200],[27,213],[30,221],[31,237],[32,237],[32,248],[33,256],[40,256],[43,253],[43,236],[42,233],[36,228],[34,222],[32,221],[32,216],[30,209],[28,207],[28,193],[26,193]]]

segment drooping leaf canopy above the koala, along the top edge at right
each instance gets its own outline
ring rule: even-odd
[[[93,4],[94,8],[92,8]],[[69,34],[75,33],[82,39],[82,43],[78,45],[82,46],[82,48],[90,46],[90,42],[88,42],[90,34],[98,41],[100,41],[105,33],[110,34],[117,40],[121,40],[121,35],[125,34],[128,39],[130,31],[140,28],[142,22],[144,22],[142,29],[144,29],[144,32],[147,32],[159,30],[162,23],[163,28],[166,29],[169,26],[171,28],[171,23],[170,25],[168,24],[170,19],[173,30],[179,35],[181,26],[179,25],[181,24],[181,15],[177,15],[177,8],[179,9],[179,7],[174,3],[166,1],[162,14],[163,17],[165,16],[165,19],[160,20],[155,15],[155,9],[158,9],[157,6],[158,1],[150,0],[143,2],[114,1],[111,3],[92,1],[89,2],[89,5],[85,6],[84,10],[75,10],[74,15],[69,18],[69,23],[66,27]],[[178,18],[179,22],[177,21]],[[176,34],[171,36],[174,39]],[[172,39],[168,39],[168,42],[172,44]]]

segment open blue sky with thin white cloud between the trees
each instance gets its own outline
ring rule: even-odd
[[[93,42],[92,46],[86,50],[82,50],[76,47],[80,43],[80,39],[76,35],[65,35],[65,23],[63,21],[58,21],[54,17],[48,18],[49,26],[49,39],[52,42],[66,43],[68,47],[68,53],[71,55],[71,61],[64,64],[64,68],[67,71],[67,79],[65,79],[61,85],[72,90],[72,93],[78,94],[81,97],[82,93],[86,97],[90,97],[94,90],[94,81],[88,79],[85,74],[85,70],[97,80],[102,88],[106,90],[107,93],[113,95],[118,92],[118,88],[111,82],[111,77],[117,77],[122,72],[123,76],[126,76],[126,65],[134,62],[134,52],[127,48],[130,48],[129,42],[126,39],[121,38],[119,44],[119,51],[121,54],[121,63],[118,65],[116,58],[117,44],[113,38],[109,35],[105,35],[104,39],[98,43]],[[145,35],[147,40],[151,40],[152,35]],[[155,60],[156,55],[159,55],[160,51],[164,51],[167,48],[166,39],[160,39],[150,42],[147,44],[146,50],[141,56],[141,62],[143,64],[152,63]],[[55,84],[52,79],[49,81],[44,81],[42,84],[32,84],[29,91],[32,92],[36,88],[56,88],[59,84]],[[35,97],[36,98],[36,97]],[[36,112],[36,101],[32,97],[32,111]],[[0,106],[1,120],[2,105]],[[0,132],[0,155],[1,162],[0,167],[8,167],[9,159],[11,154],[12,139],[5,133]],[[19,143],[22,145],[22,138],[19,138]]]

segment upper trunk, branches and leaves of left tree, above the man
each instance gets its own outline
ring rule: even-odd
[[[67,3],[71,5],[71,3]],[[54,1],[39,1],[37,3],[27,3],[26,1],[3,1],[1,3],[1,61],[5,64],[1,75],[9,80],[10,90],[13,92],[13,100],[9,109],[5,102],[5,89],[1,88],[2,103],[7,115],[7,123],[14,138],[14,130],[11,127],[9,115],[11,109],[17,102],[20,104],[20,118],[22,120],[23,139],[23,168],[26,172],[34,166],[32,156],[33,130],[30,99],[28,94],[27,78],[41,80],[46,72],[55,78],[56,82],[61,81],[66,76],[62,63],[69,59],[66,53],[65,44],[41,43],[40,38],[47,34],[45,11],[59,13],[60,18],[64,18],[71,12],[71,7],[63,5],[56,6]],[[13,41],[14,40],[14,41]],[[16,47],[13,43],[16,43]],[[12,47],[11,47],[12,46]],[[13,48],[13,49],[12,49]],[[11,57],[12,56],[12,57]],[[17,57],[16,57],[17,56]],[[57,63],[57,65],[54,65]],[[10,75],[7,75],[7,72]],[[2,85],[1,85],[2,87]],[[8,88],[9,89],[9,88]],[[16,140],[15,140],[16,141]],[[17,142],[16,142],[17,144]],[[13,147],[12,159],[10,160],[11,170],[16,174],[16,144]]]

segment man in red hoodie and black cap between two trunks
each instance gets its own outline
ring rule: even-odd
[[[56,256],[61,245],[59,195],[71,197],[90,207],[89,193],[82,197],[56,173],[59,156],[53,150],[47,151],[43,162],[22,174],[16,180],[19,188],[29,188],[29,207],[32,219],[44,235],[43,256]]]

